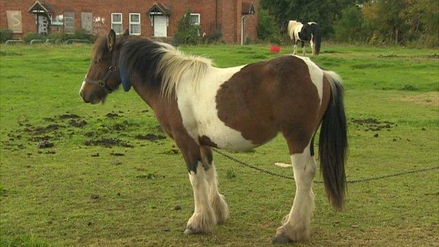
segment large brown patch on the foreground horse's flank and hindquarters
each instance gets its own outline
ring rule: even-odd
[[[249,64],[216,95],[218,117],[261,145],[279,130],[290,154],[301,153],[320,124],[320,99],[307,64],[294,56]]]

